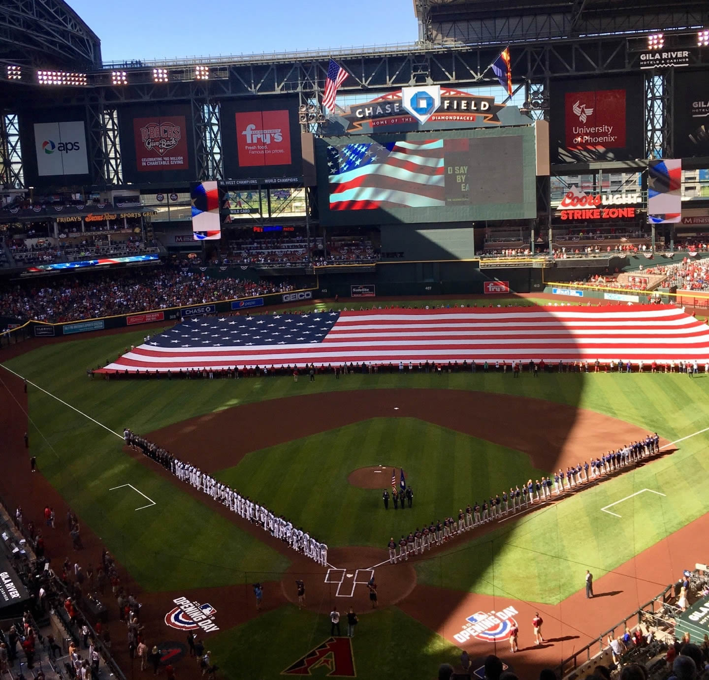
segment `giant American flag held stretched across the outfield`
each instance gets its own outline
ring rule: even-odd
[[[409,361],[709,361],[709,327],[670,306],[493,307],[201,317],[106,366],[172,370]]]

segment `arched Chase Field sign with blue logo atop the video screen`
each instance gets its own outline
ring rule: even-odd
[[[496,128],[532,123],[517,106],[496,103],[493,96],[470,94],[440,85],[404,87],[340,111],[342,113],[325,124],[325,135]]]

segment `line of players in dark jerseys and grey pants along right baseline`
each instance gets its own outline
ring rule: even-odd
[[[394,540],[393,536],[389,538],[386,546],[389,549],[389,562],[396,564],[398,561],[408,561],[411,553],[423,555],[432,545],[442,545],[464,531],[495,519],[499,520],[510,512],[526,510],[535,503],[545,502],[552,498],[552,494],[559,496],[591,480],[600,480],[610,472],[659,453],[659,450],[657,433],[648,434],[644,439],[628,443],[615,451],[608,451],[590,463],[584,461],[583,465],[579,463],[576,467],[567,467],[565,471],[559,469],[554,472],[553,478],[542,477],[534,482],[528,480],[522,485],[522,489],[510,487],[510,492],[503,492],[502,497],[497,494],[494,498],[491,496],[489,501],[483,501],[482,505],[477,501],[472,505],[468,504],[465,510],[459,509],[457,516],[446,517],[443,521],[432,521],[423,528],[417,527],[415,531],[409,532],[408,536],[402,535],[398,541]]]

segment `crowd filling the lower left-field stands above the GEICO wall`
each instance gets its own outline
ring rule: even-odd
[[[75,278],[3,284],[0,316],[69,322],[289,290],[294,286],[288,281],[213,278],[179,268],[87,273]]]

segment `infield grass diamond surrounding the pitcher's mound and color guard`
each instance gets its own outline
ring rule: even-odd
[[[414,492],[411,510],[394,511],[392,502],[384,510],[381,493],[391,491],[391,464],[397,466],[397,485],[399,467],[406,472]],[[347,482],[352,470],[376,465],[385,465],[381,489]],[[482,503],[493,489],[542,475],[547,472],[533,467],[527,455],[489,441],[415,418],[375,418],[254,451],[216,476],[277,514],[298,517],[299,525],[330,546],[385,548],[390,536],[398,540],[424,522],[457,519],[459,508],[476,499]],[[298,480],[326,483],[313,493],[312,481],[306,490]],[[345,508],[336,521],[327,511],[331,499]]]

